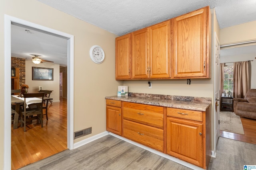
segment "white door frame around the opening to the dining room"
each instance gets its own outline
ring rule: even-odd
[[[11,25],[20,23],[67,38],[68,42],[68,99],[67,99],[67,144],[74,149],[74,35],[44,27],[36,23],[4,15],[4,169],[11,169]]]

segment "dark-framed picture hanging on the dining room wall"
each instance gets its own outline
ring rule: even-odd
[[[32,80],[53,80],[53,68],[32,67]]]

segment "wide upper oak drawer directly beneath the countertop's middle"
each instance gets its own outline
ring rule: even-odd
[[[123,102],[124,119],[164,128],[164,107]]]

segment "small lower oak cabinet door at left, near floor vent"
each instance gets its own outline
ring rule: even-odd
[[[117,135],[122,135],[121,108],[106,106],[106,129]]]

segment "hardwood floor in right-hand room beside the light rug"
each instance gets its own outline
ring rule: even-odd
[[[220,131],[220,136],[237,141],[256,144],[256,120],[241,117],[241,121],[244,128],[244,135]]]

